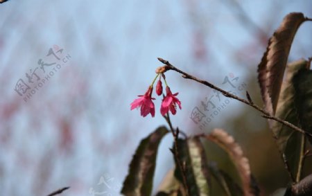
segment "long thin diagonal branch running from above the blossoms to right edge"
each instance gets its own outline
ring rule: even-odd
[[[264,109],[261,109],[261,107],[259,107],[258,105],[254,104],[252,102],[252,100],[250,99],[250,96],[248,98],[248,100],[245,100],[243,98],[239,98],[238,96],[235,96],[234,94],[232,93],[229,93],[223,89],[220,89],[219,87],[216,87],[214,84],[211,84],[209,82],[207,82],[206,80],[200,80],[196,77],[194,77],[193,75],[190,75],[189,73],[185,73],[184,71],[181,71],[180,69],[177,69],[175,66],[173,66],[170,62],[168,62],[167,60],[163,60],[162,58],[158,58],[158,60],[160,62],[162,62],[163,64],[165,64],[164,66],[164,69],[165,71],[168,71],[168,70],[173,70],[173,71],[176,71],[178,73],[181,73],[182,74],[182,77],[183,78],[186,78],[186,79],[190,79],[190,80],[194,80],[196,82],[199,82],[201,84],[204,84],[205,86],[207,87],[210,87],[211,89],[215,89],[221,93],[223,93],[224,96],[228,97],[228,98],[234,98],[236,100],[239,100],[240,102],[242,103],[245,103],[246,105],[250,105],[251,107],[253,107],[254,109],[257,109],[259,112],[261,112],[263,116],[263,118],[269,118],[269,119],[272,119],[272,120],[275,120],[279,123],[282,123],[284,125],[286,125],[287,127],[290,127],[291,129],[297,131],[297,132],[300,132],[302,134],[306,134],[306,135],[309,135],[309,136],[312,136],[312,134],[308,133],[308,132],[305,132],[304,130],[300,129],[300,127],[297,127],[295,125],[293,125],[292,123],[289,123],[287,121],[284,121],[282,120],[281,118],[277,118],[275,116],[270,116],[270,114],[268,112],[266,112],[266,110]]]

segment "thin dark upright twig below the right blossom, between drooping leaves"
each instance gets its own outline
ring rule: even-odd
[[[186,175],[186,171],[185,171],[185,167],[183,167],[180,159],[179,159],[179,150],[177,148],[177,139],[179,137],[179,129],[177,129],[176,131],[173,129],[173,126],[172,126],[172,123],[170,121],[170,117],[169,117],[169,113],[167,113],[166,116],[164,116],[164,118],[166,119],[170,129],[171,129],[171,133],[173,134],[173,138],[174,138],[174,141],[173,141],[173,145],[174,145],[174,150],[172,150],[171,152],[173,152],[173,156],[175,157],[175,160],[177,160],[177,166],[180,168],[181,172],[182,172],[182,180],[183,180],[183,184],[185,186],[185,189],[186,189],[186,193],[187,193],[187,196],[189,195],[189,186],[187,185],[187,175]]]

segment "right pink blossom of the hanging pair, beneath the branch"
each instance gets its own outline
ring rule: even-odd
[[[165,116],[169,110],[175,115],[177,113],[177,105],[182,109],[180,100],[175,97],[177,94],[178,93],[171,93],[170,88],[168,86],[166,87],[166,97],[162,100],[162,107],[160,107],[162,116]]]

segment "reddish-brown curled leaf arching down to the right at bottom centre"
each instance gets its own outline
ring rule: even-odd
[[[234,141],[233,137],[224,130],[214,129],[211,134],[206,136],[206,139],[213,141],[229,154],[236,166],[236,170],[239,172],[244,195],[259,195],[259,188],[255,184],[250,172],[249,161],[244,156],[241,146]]]

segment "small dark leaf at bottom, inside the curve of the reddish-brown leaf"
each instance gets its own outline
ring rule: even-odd
[[[227,196],[243,196],[243,191],[236,182],[223,170],[220,170],[216,163],[209,164],[209,171],[223,188]]]

